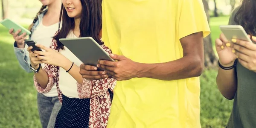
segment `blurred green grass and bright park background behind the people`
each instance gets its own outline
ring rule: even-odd
[[[214,17],[214,1],[208,2],[214,46],[214,41],[221,32],[218,26],[227,24],[231,6],[230,0],[216,0],[218,17]],[[238,4],[236,2],[236,6]],[[27,28],[40,9],[41,3],[39,0],[8,0],[7,6],[8,18]],[[0,128],[41,128],[33,74],[26,73],[19,66],[13,42],[14,39],[8,34],[8,30],[0,25]],[[201,76],[202,128],[224,128],[233,106],[233,101],[225,99],[218,91],[216,75],[216,69],[207,69]]]

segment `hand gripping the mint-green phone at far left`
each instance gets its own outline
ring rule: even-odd
[[[9,33],[13,36],[13,38],[15,39],[16,43],[17,43],[17,47],[18,48],[24,48],[25,47],[25,39],[29,37],[29,35],[27,35],[26,32],[22,33],[21,35],[19,35],[19,33],[21,32],[21,29],[18,29],[16,32],[14,32],[14,29],[10,29]]]

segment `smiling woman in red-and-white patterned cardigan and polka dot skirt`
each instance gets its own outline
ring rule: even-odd
[[[101,41],[102,0],[62,0],[61,29],[56,32],[50,48],[36,44],[46,52],[31,51],[31,67],[37,70],[34,81],[38,92],[47,93],[57,86],[61,110],[55,128],[105,128],[110,113],[115,80],[106,78],[90,81],[79,74],[82,62],[59,41],[60,38],[94,38],[107,52]],[[72,43],[72,42],[70,42]],[[41,68],[41,63],[46,67]],[[105,72],[102,71],[102,74]]]

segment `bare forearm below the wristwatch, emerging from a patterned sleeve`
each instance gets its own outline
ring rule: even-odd
[[[45,89],[47,87],[47,84],[49,82],[48,75],[45,70],[41,69],[38,71],[38,73],[35,73],[35,79],[38,81],[40,86]]]

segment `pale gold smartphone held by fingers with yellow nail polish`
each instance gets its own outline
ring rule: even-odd
[[[221,25],[220,29],[227,38],[227,40],[230,42],[234,38],[253,43],[253,41],[251,41],[251,39],[248,37],[244,28],[240,25]]]

